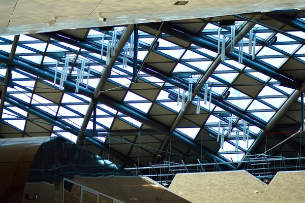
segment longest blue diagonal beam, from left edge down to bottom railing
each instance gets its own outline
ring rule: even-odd
[[[12,65],[13,67],[16,67],[27,73],[36,75],[37,77],[40,77],[44,80],[48,80],[50,82],[54,81],[53,75],[48,74],[39,69],[36,69],[35,67],[24,64],[22,62],[19,62],[17,60],[13,60],[13,62],[9,62],[8,58],[3,55],[0,55],[0,62],[4,62],[6,64]],[[56,77],[56,84],[59,84],[59,83],[60,83],[60,78]],[[74,92],[76,85],[70,81],[65,81],[64,87],[65,87],[65,89]],[[84,96],[94,99],[94,92],[87,90],[83,87],[79,87],[79,93],[83,94]],[[210,160],[215,159],[217,162],[225,162],[224,159],[220,158],[219,156],[217,156],[215,154],[210,153],[209,151],[207,151],[205,149],[202,149],[199,145],[195,144],[190,139],[188,139],[184,136],[181,136],[181,134],[179,134],[177,132],[171,133],[167,127],[165,127],[163,124],[160,124],[158,121],[155,121],[142,113],[137,113],[133,109],[127,107],[124,104],[120,104],[118,101],[115,101],[114,99],[109,98],[106,95],[99,95],[96,99],[100,103],[105,104],[106,106],[108,106],[112,109],[115,109],[116,111],[119,111],[119,112],[125,114],[126,116],[136,119],[139,122],[158,130],[162,134],[169,136],[173,140],[187,146],[188,148],[192,149],[193,151],[197,152],[198,154],[201,154],[201,153],[205,154],[205,156],[207,158],[209,158]],[[227,170],[235,170],[235,167],[232,166],[231,164],[224,164],[224,166],[226,167]]]

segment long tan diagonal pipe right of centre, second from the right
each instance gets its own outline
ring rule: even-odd
[[[253,17],[253,20],[259,21],[262,17],[263,17],[263,15],[255,15]],[[234,45],[236,45],[243,37],[245,37],[245,35],[247,35],[247,33],[253,28],[254,25],[255,25],[255,23],[248,22],[245,26],[243,26],[242,29],[240,29],[240,31],[235,36]],[[230,49],[231,49],[231,45],[228,45],[226,47],[226,52],[230,51]],[[214,62],[212,62],[212,64],[208,67],[208,70],[201,77],[201,79],[198,82],[198,85],[196,85],[196,87],[194,89],[194,94],[192,96],[192,101],[195,98],[196,94],[198,94],[198,92],[201,90],[202,86],[206,83],[208,78],[217,69],[217,67],[219,66],[220,63],[221,63],[221,55],[219,54],[216,57],[216,59],[214,60]],[[204,91],[206,91],[206,90],[204,90]],[[187,101],[186,104],[185,104],[185,111],[180,111],[179,112],[178,116],[176,117],[174,123],[172,124],[172,126],[170,128],[171,132],[173,132],[176,129],[176,127],[179,125],[180,121],[182,120],[183,116],[185,115],[185,112],[188,110],[189,106],[192,104],[192,101]],[[160,148],[161,151],[164,151],[164,149],[168,145],[168,142],[169,142],[169,138],[165,138],[165,141],[163,142],[163,144]],[[162,155],[162,152],[160,152],[159,155]],[[160,156],[156,156],[156,159],[155,159],[154,163],[158,163],[159,157]]]

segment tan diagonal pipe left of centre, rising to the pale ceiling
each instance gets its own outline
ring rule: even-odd
[[[117,57],[119,56],[120,52],[124,48],[125,44],[128,42],[128,39],[130,38],[133,31],[134,31],[134,25],[128,25],[125,32],[123,33],[123,35],[119,39],[119,41],[117,43],[117,46],[115,47],[115,55],[111,56],[110,61],[109,61],[109,65],[104,67],[104,69],[101,73],[101,78],[100,78],[100,80],[97,84],[97,87],[96,87],[96,89],[93,93],[94,98],[96,98],[100,94],[101,89],[103,89],[108,77],[111,74],[112,67],[113,67]],[[93,99],[91,99],[90,103],[89,103],[89,106],[88,106],[88,109],[85,113],[84,120],[81,124],[81,128],[80,128],[81,130],[78,133],[78,140],[81,140],[83,138],[83,136],[84,136],[83,131],[85,131],[87,126],[88,126],[88,123],[90,121],[93,110],[94,110],[94,102],[93,102]]]

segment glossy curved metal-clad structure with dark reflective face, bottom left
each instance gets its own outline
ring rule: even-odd
[[[2,139],[0,153],[1,202],[62,202],[64,178],[123,202],[189,202],[60,137]]]

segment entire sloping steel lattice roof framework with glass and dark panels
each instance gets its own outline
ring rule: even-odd
[[[305,75],[302,17],[302,13],[276,16],[270,13],[243,15],[242,19],[224,16],[139,24],[136,83],[132,81],[133,61],[129,59],[127,67],[122,64],[121,49],[126,41],[130,42],[131,25],[116,28],[117,40],[123,44],[111,67],[105,65],[105,60],[112,29],[62,30],[21,35],[19,39],[0,37],[0,78],[2,96],[6,96],[2,98],[0,135],[62,136],[76,142],[79,134],[87,137],[93,129],[92,99],[95,99],[100,137],[82,141],[124,166],[181,159],[186,163],[197,159],[234,162],[248,151],[261,153],[285,140],[302,120],[300,92]],[[217,54],[219,22],[228,19],[238,23],[238,37],[234,52],[227,41],[226,58],[221,61]],[[251,28],[257,36],[254,60],[248,53]],[[230,29],[222,26],[221,35],[229,35]],[[101,52],[103,33],[105,46]],[[277,41],[268,44],[275,37]],[[240,39],[244,50],[242,63],[238,63]],[[151,49],[155,42],[159,43],[158,48]],[[62,91],[59,78],[66,57],[71,58],[70,71]],[[75,93],[81,60],[90,66],[88,87],[85,78]],[[59,65],[54,83],[56,62]],[[12,77],[7,73],[12,73]],[[191,76],[196,78],[192,101],[187,102],[182,112],[181,102],[177,105],[176,98],[182,96],[182,90],[188,91]],[[204,97],[205,83],[211,86],[211,99],[207,99],[207,104],[202,99],[200,113],[196,114],[197,98]],[[101,88],[96,89],[97,86]],[[84,122],[86,114],[88,119]],[[235,138],[226,138],[224,149],[220,149],[216,141],[218,123],[222,121],[221,129],[227,133],[231,115],[235,132],[242,134],[243,121],[249,123],[252,146],[247,148],[240,141],[235,151]],[[295,137],[271,153],[294,157],[305,152],[303,146],[301,137]],[[235,166],[223,167],[232,170]]]

